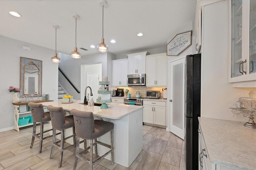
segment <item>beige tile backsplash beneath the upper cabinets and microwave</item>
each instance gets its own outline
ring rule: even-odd
[[[146,97],[146,91],[148,90],[155,90],[155,91],[160,91],[160,93],[162,93],[162,89],[166,88],[166,87],[146,87],[146,86],[129,86],[129,87],[116,87],[113,89],[117,89],[117,88],[121,88],[121,89],[128,89],[129,92],[131,94],[131,97],[135,97],[136,96],[136,92],[139,91],[140,92],[140,97]],[[112,89],[112,90],[113,90]]]

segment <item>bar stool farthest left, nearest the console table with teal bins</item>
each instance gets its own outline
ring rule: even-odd
[[[33,119],[33,134],[32,134],[32,141],[30,144],[30,148],[33,147],[35,137],[40,139],[39,142],[39,152],[41,153],[42,151],[42,144],[43,140],[52,137],[52,135],[43,137],[45,132],[49,132],[52,129],[44,131],[44,122],[50,121],[50,113],[49,112],[44,112],[44,107],[40,103],[33,103],[29,102],[28,106],[31,109],[32,113],[32,119]],[[36,123],[40,123],[40,133],[36,134]]]

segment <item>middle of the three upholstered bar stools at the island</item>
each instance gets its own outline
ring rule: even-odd
[[[59,160],[59,168],[62,164],[63,151],[71,148],[72,146],[76,146],[75,139],[75,125],[73,115],[69,115],[65,117],[64,111],[62,107],[54,107],[52,105],[47,106],[48,111],[50,111],[50,119],[52,121],[52,150],[50,154],[50,159],[52,159],[52,155],[54,152],[54,146],[60,149],[60,160]],[[73,134],[65,138],[64,130],[67,128],[73,129]],[[56,142],[56,130],[60,130],[60,140]],[[64,148],[64,142],[66,139],[73,137],[73,145],[70,145]],[[60,145],[58,144],[60,142]],[[79,141],[78,141],[79,143]]]

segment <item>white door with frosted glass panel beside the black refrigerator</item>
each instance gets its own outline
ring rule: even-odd
[[[170,132],[184,140],[185,114],[185,58],[170,62]]]

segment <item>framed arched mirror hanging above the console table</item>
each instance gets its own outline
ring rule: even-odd
[[[42,61],[20,57],[21,95],[42,96]]]

